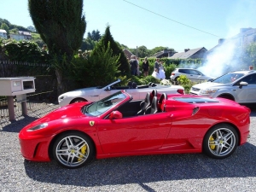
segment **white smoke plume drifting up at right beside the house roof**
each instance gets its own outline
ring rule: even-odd
[[[207,76],[217,78],[231,71],[247,70],[247,65],[242,61],[243,37],[241,34],[240,37],[237,34],[241,28],[255,26],[255,6],[254,0],[237,1],[233,4],[230,15],[226,18],[229,27],[226,40],[222,44],[218,44],[212,53],[207,55],[207,63],[199,67],[199,71]]]

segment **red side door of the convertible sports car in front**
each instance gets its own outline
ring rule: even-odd
[[[125,153],[160,148],[171,128],[167,113],[123,119],[101,119],[98,136],[104,153]]]

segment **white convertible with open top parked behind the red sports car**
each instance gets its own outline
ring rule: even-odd
[[[61,94],[58,97],[58,102],[61,106],[71,104],[73,102],[96,102],[106,96],[112,95],[119,90],[126,90],[133,100],[143,100],[148,92],[157,90],[158,93],[166,94],[184,94],[184,88],[179,85],[162,85],[149,83],[148,85],[138,85],[135,83],[128,84],[127,86],[116,86],[120,80],[114,81],[102,87],[90,87],[80,90],[73,90]]]

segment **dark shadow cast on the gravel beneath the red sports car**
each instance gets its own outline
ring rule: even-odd
[[[95,160],[79,169],[65,169],[55,161],[24,161],[26,174],[44,183],[101,186],[215,177],[256,177],[256,148],[250,143],[224,160],[204,154],[164,154]],[[147,186],[143,187],[147,189]],[[150,191],[150,189],[147,189]]]

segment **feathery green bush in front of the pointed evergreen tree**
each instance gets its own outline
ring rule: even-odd
[[[116,80],[119,74],[119,56],[113,55],[108,44],[96,47],[87,59],[73,58],[72,65],[68,67],[68,79],[74,80],[80,88],[103,86]]]

